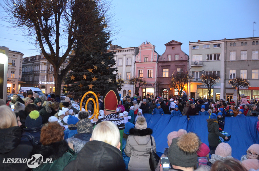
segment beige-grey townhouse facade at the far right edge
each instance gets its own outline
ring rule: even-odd
[[[247,99],[259,98],[259,37],[235,38],[225,40],[225,84],[224,94],[226,100],[238,100],[238,92],[229,86],[228,81],[235,77],[248,79],[249,88],[241,88],[240,94],[245,94]]]

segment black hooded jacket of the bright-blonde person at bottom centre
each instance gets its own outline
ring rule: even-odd
[[[70,162],[64,171],[124,171],[125,164],[120,150],[102,141],[89,141],[82,148],[76,160]]]

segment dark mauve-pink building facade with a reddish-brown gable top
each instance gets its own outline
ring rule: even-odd
[[[176,95],[179,95],[174,88],[171,88],[169,82],[174,71],[188,71],[189,56],[182,51],[181,42],[172,40],[165,45],[165,52],[157,59],[157,81],[161,81],[159,95],[168,98],[169,96],[175,97]],[[187,90],[187,85],[184,90]]]

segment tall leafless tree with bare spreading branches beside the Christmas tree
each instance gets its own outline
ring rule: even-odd
[[[73,51],[69,64],[61,68],[71,50],[80,44],[81,50],[97,52],[93,44],[98,35],[105,32],[109,37],[114,28],[109,0],[3,0],[1,6],[11,28],[20,29],[31,43],[36,41],[53,65],[55,94],[60,94],[64,77],[80,61],[80,54]]]

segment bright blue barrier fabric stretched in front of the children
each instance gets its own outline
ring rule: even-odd
[[[156,141],[156,151],[159,156],[168,147],[167,135],[172,131],[185,129],[187,132],[196,133],[200,140],[208,145],[207,121],[209,116],[186,116],[144,114],[147,127],[153,129]],[[232,156],[240,160],[246,154],[246,150],[252,144],[259,144],[259,133],[256,130],[257,117],[225,117],[224,131],[231,135],[226,142],[232,147]],[[188,142],[187,142],[188,143]]]

